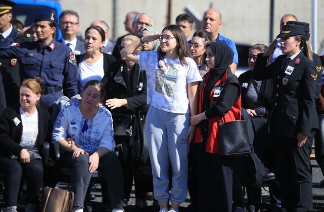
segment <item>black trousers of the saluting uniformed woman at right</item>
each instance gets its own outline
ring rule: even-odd
[[[314,134],[311,132],[302,147],[297,146],[295,137],[272,135],[282,207],[287,211],[312,209],[310,154]]]

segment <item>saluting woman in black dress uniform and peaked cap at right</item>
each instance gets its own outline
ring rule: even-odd
[[[273,79],[268,123],[282,207],[287,211],[307,211],[312,208],[310,153],[318,128],[315,99],[316,87],[320,86],[316,79],[320,75],[302,26],[287,24],[277,38],[281,38],[284,55],[266,66],[275,49],[274,40],[263,54],[258,54],[253,79]]]

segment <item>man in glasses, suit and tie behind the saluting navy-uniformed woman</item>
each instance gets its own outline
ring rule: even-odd
[[[65,10],[59,18],[62,38],[59,42],[68,45],[75,55],[85,53],[84,42],[76,38],[79,30],[79,15],[73,10]]]

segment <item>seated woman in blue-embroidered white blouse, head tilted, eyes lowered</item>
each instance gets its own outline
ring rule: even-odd
[[[71,184],[75,193],[73,211],[83,211],[83,202],[91,173],[99,165],[108,188],[113,212],[123,212],[123,174],[114,149],[111,113],[101,104],[105,86],[96,80],[87,82],[82,99],[68,102],[60,111],[53,129],[53,143],[65,151],[61,161],[73,168]],[[72,140],[72,144],[68,143]],[[62,163],[62,162],[61,162]]]

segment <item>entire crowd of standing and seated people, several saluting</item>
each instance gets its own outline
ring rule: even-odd
[[[275,173],[270,204],[283,211],[312,208],[314,138],[316,160],[324,170],[324,129],[318,121],[324,89],[321,59],[308,42],[308,23],[284,15],[272,43],[250,48],[250,70],[238,78],[238,51],[219,34],[216,9],[206,10],[196,32],[188,14],[159,32],[149,14],[129,12],[124,22],[128,34],[112,42],[102,20],[91,23],[84,41],[77,39],[79,15],[73,10],[59,18],[44,11],[32,26],[16,29],[14,6],[10,0],[0,3],[5,211],[18,209],[22,176],[27,212],[39,210],[42,185],[55,186],[53,167],[42,163],[42,144],[50,142],[63,151],[60,163],[73,170],[73,212],[83,211],[97,169],[104,176],[103,199],[113,212],[127,209],[133,181],[138,211],[147,205],[151,183],[160,212],[178,212],[188,190],[190,207],[198,211],[252,212],[261,201],[260,185],[247,188],[245,202],[241,179],[242,163],[251,161],[220,155],[220,124],[241,116],[251,122],[251,154]],[[58,27],[62,38],[56,41]],[[150,156],[151,181],[134,174],[138,140],[147,145],[141,151]],[[119,145],[122,157],[115,153]],[[249,172],[251,181],[256,172]]]

